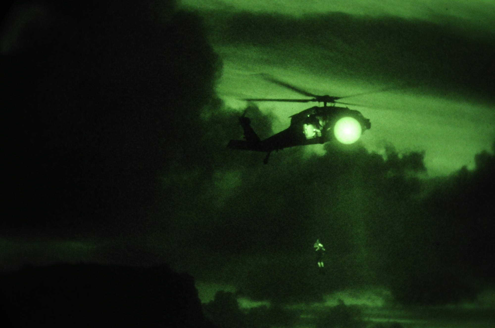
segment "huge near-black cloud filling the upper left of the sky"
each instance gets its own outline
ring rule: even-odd
[[[159,173],[196,156],[220,61],[173,1],[42,1],[1,58],[3,232],[105,235],[155,203]],[[179,154],[180,153],[180,154]]]

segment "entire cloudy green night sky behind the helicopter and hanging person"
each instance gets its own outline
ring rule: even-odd
[[[483,0],[15,2],[1,268],[168,263],[235,327],[491,327],[494,16]],[[371,129],[267,165],[227,149],[243,112],[266,138],[315,105],[241,100],[304,98],[262,74],[366,93],[346,101]]]

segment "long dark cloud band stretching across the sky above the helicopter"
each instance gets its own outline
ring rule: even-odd
[[[495,36],[469,29],[461,20],[436,23],[337,12],[301,18],[248,12],[204,15],[215,45],[260,47],[274,58],[268,64],[493,101]]]

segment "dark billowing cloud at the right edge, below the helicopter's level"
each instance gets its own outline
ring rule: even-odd
[[[430,187],[405,222],[402,245],[387,253],[386,270],[397,300],[439,304],[473,299],[495,277],[489,259],[495,250],[494,156],[476,156],[465,167]],[[407,245],[404,247],[404,245]],[[400,251],[399,251],[400,250]]]

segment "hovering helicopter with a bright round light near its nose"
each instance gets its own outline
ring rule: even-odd
[[[348,107],[336,106],[356,105],[339,101],[343,98],[354,97],[357,95],[368,94],[372,92],[353,94],[344,97],[329,95],[315,95],[300,89],[292,84],[279,81],[273,77],[264,76],[264,79],[289,88],[302,95],[312,97],[311,99],[266,99],[252,98],[243,99],[245,101],[280,101],[280,102],[318,102],[323,103],[323,107],[314,106],[303,110],[295,115],[290,116],[291,124],[288,128],[280,131],[264,140],[261,140],[254,132],[250,123],[251,120],[246,117],[246,112],[239,118],[239,123],[244,130],[246,140],[230,140],[227,147],[238,150],[250,150],[257,152],[266,152],[267,155],[263,160],[264,164],[268,163],[268,158],[272,151],[279,151],[284,148],[305,146],[312,144],[323,144],[328,141],[337,139],[338,141],[350,144],[361,136],[361,134],[371,128],[371,122],[366,119],[360,112],[351,110]],[[376,91],[375,91],[376,92]],[[358,105],[359,106],[359,105]]]

